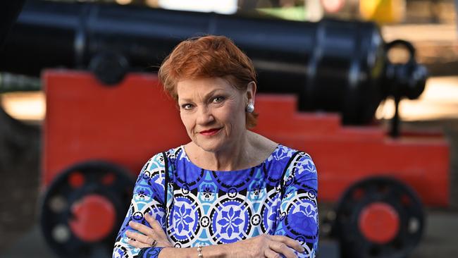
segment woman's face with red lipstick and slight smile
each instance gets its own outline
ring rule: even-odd
[[[178,82],[177,93],[181,121],[194,144],[218,152],[240,143],[252,87],[240,91],[223,78],[199,78]]]

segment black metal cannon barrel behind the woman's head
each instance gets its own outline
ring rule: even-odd
[[[385,44],[373,23],[53,1],[26,2],[0,53],[0,70],[39,75],[48,67],[82,68],[116,84],[127,71],[156,70],[178,42],[204,34],[228,36],[245,51],[259,92],[297,94],[299,110],[339,112],[345,124],[370,123],[383,99],[415,99],[426,83],[411,44]],[[410,51],[407,63],[388,60],[396,44]]]

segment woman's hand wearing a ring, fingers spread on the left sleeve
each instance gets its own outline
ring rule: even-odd
[[[172,247],[171,242],[168,242],[166,233],[162,230],[161,224],[153,219],[151,215],[144,214],[144,219],[147,220],[151,228],[144,226],[141,223],[134,221],[129,222],[129,226],[133,229],[140,231],[136,233],[134,231],[126,231],[126,235],[129,240],[129,244],[133,247],[144,248],[144,247]]]

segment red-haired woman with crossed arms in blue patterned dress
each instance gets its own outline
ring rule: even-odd
[[[314,257],[316,169],[247,130],[257,116],[248,57],[226,37],[188,39],[159,79],[191,142],[144,165],[113,257]]]

